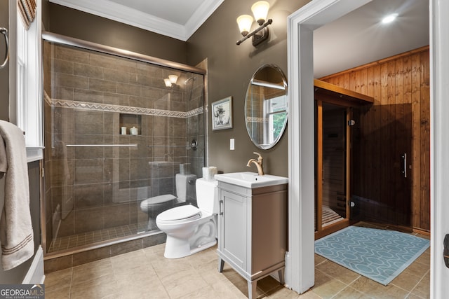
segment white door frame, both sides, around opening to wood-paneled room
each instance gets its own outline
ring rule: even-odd
[[[286,284],[304,293],[314,286],[313,31],[371,0],[314,0],[288,17],[289,195]],[[430,3],[431,298],[449,292],[443,239],[449,233],[449,1]],[[445,100],[445,101],[444,101]],[[446,117],[445,117],[446,116]],[[445,132],[446,131],[446,132]],[[445,135],[448,138],[444,138]]]

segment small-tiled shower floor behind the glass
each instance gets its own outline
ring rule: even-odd
[[[127,224],[67,237],[57,237],[51,242],[48,252],[74,249],[79,246],[135,235],[138,232],[145,232],[145,230],[147,230],[147,223]]]

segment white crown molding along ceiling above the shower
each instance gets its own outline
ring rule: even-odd
[[[74,8],[78,11],[98,15],[181,41],[187,41],[223,1],[206,0],[205,4],[199,6],[187,21],[187,24],[183,26],[108,0],[50,0],[54,4]]]

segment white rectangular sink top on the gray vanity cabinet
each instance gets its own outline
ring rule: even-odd
[[[232,172],[229,174],[215,174],[215,179],[217,181],[232,183],[234,185],[246,188],[259,188],[288,183],[288,178],[285,178],[283,176],[272,176],[271,174],[260,176],[255,172]]]

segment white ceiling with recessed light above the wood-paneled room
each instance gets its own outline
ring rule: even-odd
[[[398,13],[390,24],[385,15]],[[373,0],[314,31],[314,77],[429,45],[429,0]]]

